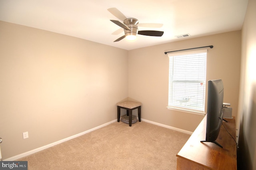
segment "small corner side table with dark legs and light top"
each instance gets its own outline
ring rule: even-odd
[[[124,101],[117,103],[117,121],[120,121],[120,110],[126,109],[126,115],[129,116],[129,126],[132,126],[132,110],[138,109],[139,122],[141,121],[141,103],[133,101]]]

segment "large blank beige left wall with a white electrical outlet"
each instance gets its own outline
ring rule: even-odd
[[[3,159],[115,120],[127,77],[126,50],[0,22]]]

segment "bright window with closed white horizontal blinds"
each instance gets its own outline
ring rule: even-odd
[[[168,54],[168,109],[204,114],[207,50]]]

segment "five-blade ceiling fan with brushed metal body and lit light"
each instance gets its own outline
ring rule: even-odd
[[[163,24],[152,24],[152,23],[144,23],[144,24],[138,24],[139,21],[136,18],[126,18],[122,12],[120,12],[117,8],[109,8],[108,11],[116,16],[116,18],[123,21],[120,22],[118,20],[110,20],[114,22],[114,24],[121,27],[120,30],[116,30],[113,34],[119,34],[120,31],[122,31],[122,28],[124,29],[124,36],[116,39],[114,42],[118,42],[124,38],[127,40],[135,40],[137,38],[137,35],[143,35],[143,36],[157,36],[160,37],[164,34],[162,31],[152,31],[152,30],[143,30],[139,31],[138,26],[140,27],[150,27],[150,28],[160,28],[163,26]]]

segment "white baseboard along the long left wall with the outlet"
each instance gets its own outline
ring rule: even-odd
[[[57,145],[57,144],[66,142],[66,141],[68,141],[68,140],[70,140],[70,139],[76,138],[76,137],[78,137],[78,136],[82,136],[82,135],[84,135],[84,134],[86,134],[86,133],[89,133],[89,132],[92,132],[92,131],[94,131],[94,130],[97,130],[98,128],[105,127],[105,126],[110,125],[111,123],[114,123],[114,122],[116,122],[116,119],[113,120],[113,121],[110,121],[110,122],[108,122],[108,123],[105,123],[105,124],[103,124],[103,125],[100,125],[100,126],[98,126],[98,127],[91,128],[91,129],[89,129],[89,130],[86,130],[86,131],[84,131],[84,132],[75,134],[75,135],[70,136],[70,137],[67,137],[67,138],[64,138],[64,139],[62,139],[62,140],[58,140],[58,141],[56,141],[56,142],[47,144],[47,145],[42,146],[42,147],[40,147],[40,148],[36,148],[36,149],[30,150],[30,151],[28,151],[28,152],[24,152],[24,153],[22,153],[22,154],[18,154],[18,155],[16,155],[16,156],[12,156],[12,157],[10,157],[10,158],[5,159],[4,161],[14,161],[14,160],[23,158],[23,157],[28,156],[28,155],[30,155],[30,154],[34,154],[34,153],[39,152],[39,151],[41,151],[41,150],[50,148],[50,147],[55,146],[55,145]]]

